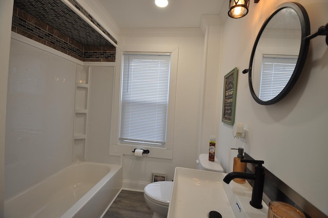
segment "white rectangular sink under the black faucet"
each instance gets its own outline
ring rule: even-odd
[[[209,217],[212,210],[219,212],[222,218],[267,218],[268,206],[263,201],[262,209],[249,204],[252,196],[250,184],[233,181],[226,184],[223,182],[226,175],[177,167],[168,218]]]

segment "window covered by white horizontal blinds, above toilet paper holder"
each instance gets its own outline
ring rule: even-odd
[[[124,54],[119,140],[165,147],[170,54]]]

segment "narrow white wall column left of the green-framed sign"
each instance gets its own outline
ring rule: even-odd
[[[211,21],[214,19],[214,22]],[[221,118],[220,104],[218,103],[219,96],[222,95],[222,87],[218,85],[220,57],[221,57],[221,38],[222,24],[218,15],[203,16],[203,21],[207,23],[204,34],[204,68],[203,68],[203,88],[201,102],[201,127],[199,138],[199,153],[209,152],[210,135],[217,135],[218,122]],[[216,144],[216,148],[220,146]],[[216,156],[218,156],[216,149]]]

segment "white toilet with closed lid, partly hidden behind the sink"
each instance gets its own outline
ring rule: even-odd
[[[223,172],[223,168],[215,157],[214,162],[209,161],[209,154],[200,154],[198,169],[214,172]],[[173,182],[161,181],[148,184],[144,189],[146,204],[154,211],[153,218],[166,218],[169,211]]]

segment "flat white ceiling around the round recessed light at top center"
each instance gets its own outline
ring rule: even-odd
[[[228,0],[169,0],[166,8],[158,8],[154,0],[98,1],[119,28],[183,28],[200,27],[202,14],[220,14]]]

